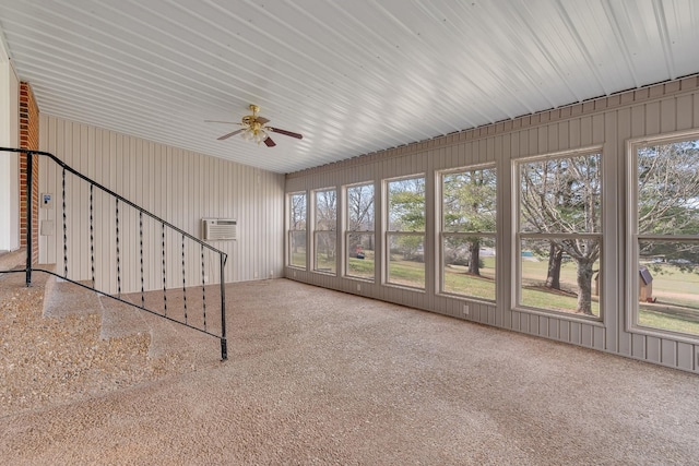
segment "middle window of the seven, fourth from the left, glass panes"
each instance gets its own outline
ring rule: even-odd
[[[386,282],[425,288],[425,178],[387,181]]]

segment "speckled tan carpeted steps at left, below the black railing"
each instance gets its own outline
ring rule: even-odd
[[[0,274],[0,417],[213,367],[216,346],[54,275],[27,287],[23,274]]]

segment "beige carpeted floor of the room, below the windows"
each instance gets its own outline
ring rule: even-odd
[[[697,375],[286,279],[226,296],[228,361],[0,415],[0,464],[699,463]]]

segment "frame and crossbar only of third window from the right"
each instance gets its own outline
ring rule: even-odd
[[[495,172],[495,180],[496,180],[496,196],[493,201],[493,204],[495,205],[495,217],[496,217],[496,225],[495,225],[495,230],[494,231],[466,231],[466,230],[460,230],[460,231],[447,231],[445,228],[445,177],[449,176],[449,175],[455,175],[455,174],[465,174],[465,172],[473,172],[473,171],[477,171],[477,170],[485,170],[485,169],[491,169]],[[485,163],[485,164],[475,164],[475,165],[466,165],[463,167],[458,167],[458,168],[449,168],[446,170],[441,170],[437,172],[437,202],[439,203],[439,215],[438,215],[438,225],[437,225],[437,230],[438,230],[438,240],[439,240],[439,258],[437,261],[435,261],[435,266],[438,268],[438,277],[439,277],[439,288],[437,294],[438,295],[443,295],[450,298],[458,298],[458,299],[465,299],[469,301],[476,301],[476,302],[484,302],[486,304],[495,304],[497,301],[497,297],[498,297],[498,267],[497,267],[497,242],[498,242],[498,199],[497,199],[497,186],[499,182],[499,178],[498,178],[498,169],[497,169],[497,164],[495,162],[489,162],[489,163]],[[448,291],[445,289],[445,285],[446,285],[446,279],[445,279],[445,240],[447,238],[473,238],[473,237],[478,237],[478,238],[488,238],[491,239],[495,243],[496,243],[496,255],[495,255],[495,277],[494,277],[494,284],[495,284],[495,292],[493,295],[493,299],[487,299],[487,298],[483,298],[483,297],[478,297],[478,296],[473,296],[473,295],[466,295],[466,294],[462,294],[462,292],[454,292],[454,291]]]

